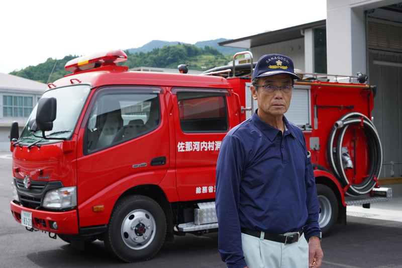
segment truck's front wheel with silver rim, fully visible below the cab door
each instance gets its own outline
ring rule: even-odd
[[[162,208],[146,196],[121,199],[112,212],[105,245],[126,262],[152,258],[166,235],[166,218]]]

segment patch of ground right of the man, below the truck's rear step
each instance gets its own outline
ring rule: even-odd
[[[380,209],[376,213],[361,212],[358,216],[347,213],[347,224],[336,225],[323,238],[323,268],[402,267],[402,222],[400,218],[375,219],[388,216],[380,215],[388,213]]]

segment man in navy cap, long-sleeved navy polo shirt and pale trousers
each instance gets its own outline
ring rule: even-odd
[[[294,79],[292,60],[262,56],[251,95],[258,108],[233,128],[217,162],[219,250],[228,267],[320,267],[319,204],[303,132],[283,115]]]

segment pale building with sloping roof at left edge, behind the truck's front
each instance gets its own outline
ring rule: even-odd
[[[45,83],[0,73],[0,151],[10,150],[11,124],[17,121],[21,133],[45,90]]]

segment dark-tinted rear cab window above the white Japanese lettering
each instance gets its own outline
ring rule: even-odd
[[[226,132],[225,96],[209,92],[177,92],[180,127],[183,132]]]

